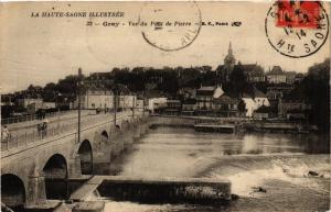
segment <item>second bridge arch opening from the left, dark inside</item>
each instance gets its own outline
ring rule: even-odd
[[[63,155],[54,154],[43,168],[47,199],[67,199],[67,163]]]

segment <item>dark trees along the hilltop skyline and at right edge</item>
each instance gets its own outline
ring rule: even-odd
[[[250,83],[247,81],[244,68],[241,64],[234,67],[229,75],[228,81],[222,81],[216,71],[211,66],[200,67],[136,67],[114,68],[108,75],[105,75],[107,83],[103,86],[107,89],[114,89],[114,85],[120,85],[132,92],[148,92],[157,90],[167,93],[169,97],[178,97],[178,91],[182,88],[200,88],[203,86],[215,86],[222,83],[225,92],[231,96],[239,97],[241,94],[253,92],[254,87],[266,92],[267,83]],[[83,81],[94,80],[96,74],[83,76]],[[330,122],[330,58],[323,63],[314,64],[309,67],[308,74],[299,83],[295,85],[292,96],[301,98],[312,104],[312,114],[310,122],[321,129],[329,129]],[[44,101],[74,101],[78,92],[78,76],[70,75],[60,79],[56,83],[50,82],[44,87],[29,86],[29,88],[17,94],[14,98],[22,96],[39,94]],[[109,82],[111,81],[111,82]],[[100,81],[100,83],[103,83]],[[118,88],[118,87],[117,87]],[[86,87],[85,87],[86,89]],[[84,86],[83,86],[84,90]],[[23,93],[23,94],[22,94]]]

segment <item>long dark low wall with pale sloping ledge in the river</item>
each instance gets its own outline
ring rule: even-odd
[[[85,201],[93,192],[116,201],[145,203],[223,203],[231,200],[231,182],[213,178],[139,178],[95,176],[72,196]]]

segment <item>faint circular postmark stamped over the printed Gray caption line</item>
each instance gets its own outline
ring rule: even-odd
[[[148,2],[139,14],[143,40],[166,52],[191,45],[201,23],[201,11],[195,2]]]

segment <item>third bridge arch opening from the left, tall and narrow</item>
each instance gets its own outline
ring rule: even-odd
[[[93,150],[88,140],[84,140],[78,148],[82,175],[93,174]]]

